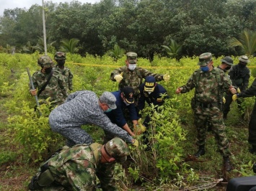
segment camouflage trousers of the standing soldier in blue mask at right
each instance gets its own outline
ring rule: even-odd
[[[212,124],[212,131],[218,145],[219,152],[223,157],[232,155],[229,150],[229,141],[226,138],[223,113],[218,107],[203,108],[196,106],[194,109],[195,126],[197,128],[198,146],[206,144],[207,122]]]

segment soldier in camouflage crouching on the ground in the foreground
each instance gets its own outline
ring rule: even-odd
[[[127,144],[115,137],[106,144],[78,144],[64,146],[38,169],[30,190],[96,190],[96,176],[102,190],[116,190],[113,178],[107,177],[102,164],[125,162],[129,154]],[[104,165],[103,165],[104,167]]]

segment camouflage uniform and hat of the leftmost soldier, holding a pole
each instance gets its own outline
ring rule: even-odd
[[[49,62],[51,65],[52,61],[45,59],[45,57],[50,59],[50,57],[48,56],[43,56],[43,62]],[[42,60],[42,57],[40,57],[40,59]],[[45,67],[49,63],[45,63],[41,66]],[[32,75],[32,81],[35,86],[35,89],[39,91],[48,80],[49,75],[50,74],[48,73],[42,73],[41,70],[35,72]],[[45,100],[50,97],[49,101],[52,102],[53,106],[56,106],[63,103],[67,96],[68,96],[68,92],[67,92],[67,87],[66,87],[66,83],[63,76],[58,71],[53,71],[53,75],[50,78],[48,85],[46,85],[45,90],[43,90],[42,93],[40,93],[38,98]]]

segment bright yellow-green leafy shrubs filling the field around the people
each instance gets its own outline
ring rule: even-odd
[[[14,144],[19,152],[12,152],[8,146],[0,149],[0,164],[6,164],[15,160],[15,157],[21,155],[20,162],[27,164],[38,164],[53,154],[56,149],[65,144],[63,138],[50,131],[48,126],[49,106],[40,106],[39,113],[34,111],[35,100],[29,94],[29,79],[26,73],[26,67],[30,68],[30,73],[40,68],[37,66],[37,57],[40,55],[35,52],[32,55],[5,53],[0,54],[1,79],[0,79],[0,98],[6,98],[4,110],[9,113],[8,134],[3,143]],[[50,57],[53,57],[49,53]],[[237,57],[233,57],[237,63]],[[214,65],[220,63],[221,58],[214,58]],[[125,56],[115,60],[108,55],[94,57],[87,54],[81,57],[76,54],[67,54],[66,66],[74,73],[74,91],[93,90],[100,95],[105,90],[118,90],[118,84],[110,80],[111,71],[124,65]],[[251,59],[252,63],[256,61]],[[156,73],[168,73],[171,76],[169,83],[159,82],[167,88],[169,99],[164,106],[159,108],[160,112],[153,113],[149,134],[151,135],[151,149],[145,150],[142,144],[138,148],[131,147],[131,158],[133,162],[118,165],[115,178],[118,180],[118,186],[123,190],[131,190],[134,184],[142,184],[147,190],[178,190],[180,187],[190,187],[207,182],[202,178],[204,175],[200,169],[207,172],[208,178],[219,178],[221,168],[221,156],[216,154],[216,144],[213,136],[208,137],[207,154],[203,163],[184,162],[187,154],[195,152],[195,129],[193,127],[193,114],[190,109],[190,99],[193,91],[184,95],[176,95],[175,89],[179,85],[186,83],[193,70],[197,69],[198,57],[182,57],[178,62],[175,58],[160,57],[154,55],[153,62],[144,58],[138,58],[138,65],[147,68]],[[255,69],[252,68],[252,71]],[[250,78],[250,83],[254,78]],[[246,117],[250,115],[253,98],[247,98],[244,102]],[[235,103],[234,103],[235,104]],[[38,111],[38,110],[37,110]],[[147,106],[143,116],[152,113],[154,106]],[[233,112],[234,112],[233,108]],[[236,113],[232,114],[234,118],[230,121],[230,126],[239,123],[239,117]],[[89,134],[92,134],[94,141],[102,142],[102,129],[97,126],[83,126]],[[4,128],[6,130],[6,127]],[[7,130],[6,130],[7,131]],[[244,131],[244,130],[241,130]],[[225,175],[227,179],[239,175],[251,175],[251,164],[255,162],[250,154],[243,154],[241,145],[247,147],[247,133],[239,134],[234,127],[227,129],[227,135],[234,145],[232,151],[235,157],[232,157],[236,170],[231,174]],[[243,136],[241,138],[241,136]],[[137,139],[141,141],[141,136]],[[238,149],[238,151],[237,151]],[[244,152],[246,152],[246,148]],[[210,167],[209,167],[210,165]],[[212,165],[212,166],[211,166]],[[211,168],[213,167],[213,169]],[[206,173],[204,172],[204,173]],[[209,174],[211,173],[211,174]],[[32,175],[32,174],[31,174]],[[28,181],[29,178],[26,179]],[[25,180],[23,180],[25,181]],[[211,180],[212,181],[212,180]],[[8,189],[7,189],[8,190]]]

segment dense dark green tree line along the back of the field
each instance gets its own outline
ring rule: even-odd
[[[13,47],[16,52],[43,52],[42,9],[34,4],[4,10],[0,52]],[[229,41],[239,39],[244,29],[256,31],[256,0],[48,1],[44,9],[48,51],[66,49],[83,56],[104,55],[115,45],[140,57],[166,56],[174,42],[180,47],[175,57],[202,52],[237,56],[244,49],[230,46]]]

